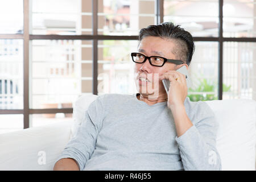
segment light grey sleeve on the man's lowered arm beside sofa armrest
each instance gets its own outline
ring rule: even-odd
[[[69,140],[56,162],[63,158],[72,158],[79,164],[80,170],[84,169],[85,163],[93,154],[104,117],[105,110],[101,97],[97,97],[85,111],[85,117],[76,134]]]

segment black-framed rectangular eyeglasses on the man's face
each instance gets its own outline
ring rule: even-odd
[[[137,52],[132,52],[131,53],[131,59],[135,63],[144,63],[147,59],[150,62],[151,65],[156,66],[156,67],[163,67],[164,63],[168,61],[169,63],[174,63],[174,64],[185,64],[181,60],[175,60],[175,59],[166,59],[165,57],[160,57],[160,56],[145,56],[142,53],[137,53]]]

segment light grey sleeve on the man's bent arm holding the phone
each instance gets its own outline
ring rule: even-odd
[[[216,149],[216,117],[205,102],[201,102],[195,114],[195,125],[176,137],[183,167],[185,170],[221,170],[221,159]]]

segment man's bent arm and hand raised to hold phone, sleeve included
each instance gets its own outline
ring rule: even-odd
[[[185,170],[221,170],[220,155],[216,150],[216,132],[218,123],[215,115],[206,103],[193,108],[196,117],[193,123],[188,117],[184,101],[188,94],[185,75],[177,71],[168,71],[160,80],[168,79],[171,86],[168,91],[167,106],[174,116],[177,131],[176,142]]]

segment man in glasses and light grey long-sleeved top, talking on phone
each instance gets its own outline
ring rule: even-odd
[[[97,97],[53,169],[221,170],[214,113],[189,101],[176,72],[188,69],[193,51],[191,34],[173,23],[142,28],[131,53],[139,93]]]

